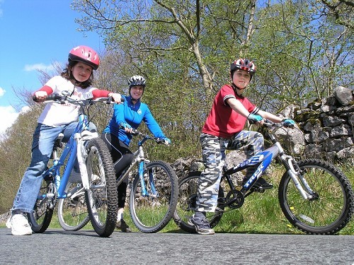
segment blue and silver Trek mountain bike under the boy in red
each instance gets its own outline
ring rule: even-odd
[[[253,192],[264,192],[253,187],[270,163],[279,158],[285,167],[278,187],[282,213],[295,228],[315,235],[334,234],[344,228],[354,211],[354,196],[346,175],[337,167],[323,160],[308,159],[297,162],[285,154],[275,131],[285,124],[265,121],[273,146],[254,155],[232,168],[223,168],[219,197],[215,213],[207,213],[210,226],[215,227],[225,211],[240,208]],[[258,165],[253,176],[242,186],[236,187],[232,174]],[[201,172],[190,172],[179,179],[179,196],[173,219],[187,232],[195,232],[188,219],[195,211],[198,181]]]

